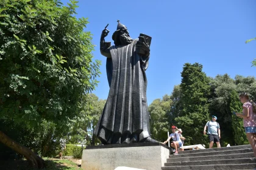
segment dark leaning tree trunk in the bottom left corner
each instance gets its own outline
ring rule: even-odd
[[[27,158],[27,161],[29,161],[29,164],[33,168],[43,168],[44,167],[44,160],[42,158],[40,158],[37,154],[32,152],[26,146],[23,146],[20,143],[9,138],[2,131],[0,131],[0,142],[4,143],[9,148],[12,148],[14,151],[18,152],[19,154],[24,155],[24,157]]]

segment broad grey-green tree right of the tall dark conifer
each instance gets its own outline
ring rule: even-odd
[[[247,92],[252,99],[255,98],[255,78],[236,75],[233,80],[227,74],[217,75],[210,81],[210,86],[212,94],[209,110],[218,117],[221,145],[247,144],[243,120],[232,115],[232,112],[241,112],[242,104],[238,98],[241,92]]]

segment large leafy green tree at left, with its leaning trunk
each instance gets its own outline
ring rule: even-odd
[[[68,131],[98,83],[87,19],[76,16],[76,1],[0,1],[0,118],[40,129],[43,121]],[[43,160],[0,131],[0,141],[32,166]]]

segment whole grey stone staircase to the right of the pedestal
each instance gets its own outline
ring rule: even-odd
[[[169,155],[162,170],[171,169],[256,169],[251,145],[198,149]]]

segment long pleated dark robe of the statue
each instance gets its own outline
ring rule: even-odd
[[[110,91],[102,115],[94,130],[102,144],[143,142],[150,137],[146,100],[145,70],[149,56],[136,53],[136,42],[127,46],[101,48],[107,56]]]

